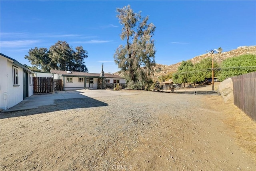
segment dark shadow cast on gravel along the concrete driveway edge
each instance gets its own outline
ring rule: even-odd
[[[27,109],[22,111],[10,111],[1,113],[0,119],[10,118],[10,117],[20,117],[28,115],[36,115],[40,113],[47,113],[52,111],[60,111],[67,109],[78,109],[78,108],[88,108],[88,107],[100,107],[107,106],[107,103],[102,101],[86,97],[86,98],[73,98],[73,99],[55,99],[53,105],[40,106],[35,109]]]

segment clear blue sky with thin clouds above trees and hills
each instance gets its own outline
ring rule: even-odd
[[[31,48],[58,40],[88,51],[88,72],[118,71],[113,55],[122,26],[116,8],[130,4],[149,16],[158,64],[171,65],[206,50],[256,45],[256,1],[0,1],[0,52],[24,59]]]

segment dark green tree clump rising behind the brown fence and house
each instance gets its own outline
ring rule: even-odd
[[[73,50],[66,41],[58,41],[49,50],[35,47],[25,55],[25,59],[29,60],[32,67],[45,72],[50,72],[51,69],[87,72],[85,58],[88,58],[88,52],[82,46]]]

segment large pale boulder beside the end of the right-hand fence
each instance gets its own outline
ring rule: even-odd
[[[231,78],[228,78],[220,83],[219,85],[220,95],[224,99],[224,102],[234,103],[234,94],[233,94],[233,81]]]

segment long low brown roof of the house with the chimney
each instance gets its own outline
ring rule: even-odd
[[[62,76],[72,76],[72,77],[88,77],[88,78],[122,78],[121,76],[114,74],[104,74],[104,77],[101,77],[100,74],[97,73],[89,73],[89,72],[76,72],[76,71],[62,71],[62,70],[51,70],[52,74],[59,74]]]

